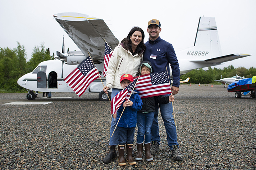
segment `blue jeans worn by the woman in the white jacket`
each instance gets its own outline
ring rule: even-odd
[[[120,91],[122,91],[122,89],[113,88],[112,92],[111,92],[111,100],[115,97],[116,93],[119,93]],[[110,146],[114,146],[114,145],[118,144],[118,132],[117,132],[117,129],[114,132],[115,125],[116,125],[116,119],[112,117],[111,126],[110,126],[110,138],[109,138],[109,145]],[[114,134],[112,136],[113,132],[114,132]]]

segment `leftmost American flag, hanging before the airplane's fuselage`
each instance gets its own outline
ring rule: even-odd
[[[94,66],[91,57],[87,57],[78,65],[64,80],[80,97],[86,88],[99,77],[98,71]]]

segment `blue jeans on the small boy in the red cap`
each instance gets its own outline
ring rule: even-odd
[[[116,127],[118,129],[118,145],[133,145],[135,127]]]

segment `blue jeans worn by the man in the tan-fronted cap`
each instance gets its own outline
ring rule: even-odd
[[[164,96],[170,96],[170,95],[165,94]],[[172,145],[179,145],[177,142],[177,132],[176,132],[176,127],[173,119],[172,103],[167,103],[167,104],[156,103],[155,116],[154,116],[154,120],[151,128],[151,135],[152,135],[151,141],[156,141],[160,144],[159,127],[158,127],[158,120],[157,120],[158,108],[160,108],[161,116],[164,121],[168,146],[172,150]]]

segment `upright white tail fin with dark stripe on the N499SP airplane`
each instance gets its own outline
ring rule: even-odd
[[[197,27],[194,49],[194,55],[196,52],[197,55],[199,55],[199,53],[201,52],[202,58],[205,58],[207,56],[207,58],[209,59],[222,55],[215,18],[204,16],[200,17]],[[199,56],[197,56],[197,58]]]

